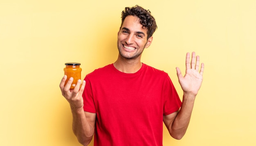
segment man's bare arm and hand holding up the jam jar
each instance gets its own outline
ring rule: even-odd
[[[73,116],[73,132],[76,135],[78,141],[84,146],[87,146],[90,144],[94,135],[96,114],[83,111],[82,94],[85,88],[85,81],[83,81],[81,88],[81,80],[78,80],[75,88],[70,89],[73,78],[71,77],[68,80],[66,86],[64,86],[65,80],[67,80],[66,75],[61,80],[60,88],[62,95],[70,103]]]

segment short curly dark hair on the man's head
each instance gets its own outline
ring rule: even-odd
[[[143,28],[147,28],[147,39],[150,38],[155,30],[157,29],[157,24],[155,22],[155,18],[151,15],[151,12],[149,10],[146,10],[138,5],[135,5],[135,7],[126,7],[124,11],[122,11],[122,23],[121,26],[124,23],[124,19],[128,16],[136,16],[140,19],[140,24],[143,26]]]

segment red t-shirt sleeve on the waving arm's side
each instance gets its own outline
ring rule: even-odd
[[[177,110],[180,109],[182,104],[180,97],[173,86],[173,83],[170,77],[167,75],[166,80],[164,81],[163,85],[163,95],[164,95],[164,109],[163,114],[169,115]]]

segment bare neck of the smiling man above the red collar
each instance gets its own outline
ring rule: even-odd
[[[123,73],[136,73],[141,69],[142,62],[140,58],[135,60],[121,59],[120,57],[113,63],[115,68]]]

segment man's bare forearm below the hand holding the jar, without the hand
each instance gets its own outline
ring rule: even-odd
[[[71,111],[73,116],[73,132],[76,135],[78,141],[84,146],[87,146],[90,144],[94,135],[94,128],[88,122],[83,108],[71,109]]]

